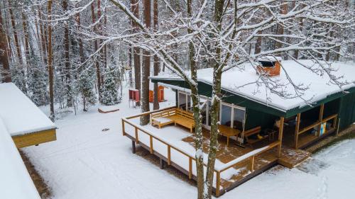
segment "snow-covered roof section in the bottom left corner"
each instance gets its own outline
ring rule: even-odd
[[[0,198],[40,199],[31,176],[1,118],[0,159]]]

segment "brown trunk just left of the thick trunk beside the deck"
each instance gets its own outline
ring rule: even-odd
[[[131,0],[131,11],[136,18],[139,18],[139,4],[138,0]],[[132,21],[133,32],[138,31],[138,24]],[[133,47],[133,62],[134,62],[134,85],[135,89],[141,92],[141,58],[139,47]]]

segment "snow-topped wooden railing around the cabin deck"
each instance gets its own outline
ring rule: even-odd
[[[139,115],[133,115],[127,118],[122,118],[122,134],[124,136],[127,135],[127,132],[125,130],[125,125],[129,124],[132,127],[134,127],[134,142],[136,142],[136,144],[139,144],[139,137],[138,137],[138,130],[140,130],[141,132],[145,133],[146,135],[149,136],[149,150],[151,152],[151,154],[158,153],[157,151],[154,151],[154,147],[153,147],[153,139],[158,140],[159,142],[165,144],[167,146],[167,160],[168,160],[168,165],[171,165],[172,161],[171,161],[171,149],[175,149],[175,151],[179,152],[180,154],[183,154],[187,157],[188,161],[189,161],[189,170],[188,170],[188,177],[190,179],[192,179],[193,174],[192,174],[192,161],[196,161],[195,158],[195,154],[189,154],[188,152],[184,152],[182,149],[179,149],[178,147],[173,146],[172,144],[168,143],[165,140],[162,140],[160,137],[157,137],[155,135],[153,135],[153,133],[149,132],[148,130],[145,130],[144,127],[142,127],[141,125],[137,125],[133,122],[131,122],[130,120],[133,118],[138,118],[141,117],[143,115],[150,115],[151,113],[157,113],[163,110],[168,110],[171,108],[175,108],[175,107],[169,107],[169,108],[164,108],[164,109],[160,109],[160,110],[154,110],[154,111],[149,111],[146,113],[141,113]],[[231,169],[232,167],[236,166],[237,164],[240,164],[242,161],[248,161],[249,160],[249,170],[251,171],[251,173],[253,173],[253,171],[255,171],[255,157],[263,154],[264,152],[267,152],[271,149],[273,149],[274,147],[278,147],[280,146],[280,141],[275,141],[271,144],[268,144],[266,147],[262,147],[260,149],[255,149],[247,154],[242,155],[241,157],[238,157],[237,159],[234,159],[232,161],[229,161],[227,164],[224,164],[223,166],[219,166],[217,168],[214,168],[214,173],[216,173],[216,196],[218,197],[220,195],[220,191],[221,191],[221,173]],[[160,154],[162,157],[163,154]],[[206,163],[204,163],[204,166],[207,166]]]

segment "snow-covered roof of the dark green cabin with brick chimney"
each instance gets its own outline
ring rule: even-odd
[[[312,67],[312,69],[318,69],[320,66],[314,64],[312,60],[299,60],[302,64],[307,65],[307,67]],[[249,64],[244,65],[244,69],[229,69],[222,74],[222,89],[234,93],[244,98],[249,98],[257,103],[262,103],[272,108],[276,108],[283,112],[287,110],[303,106],[307,106],[309,103],[314,103],[320,101],[327,96],[339,93],[342,89],[349,89],[355,86],[355,64],[334,62],[332,67],[337,69],[334,74],[337,76],[344,76],[341,81],[348,81],[350,84],[339,86],[329,82],[329,76],[327,74],[319,75],[306,69],[295,61],[284,60],[281,62],[284,69],[293,80],[295,84],[303,84],[303,86],[308,86],[308,89],[302,95],[302,98],[283,98],[275,93],[272,93],[270,89],[266,89],[265,85],[257,88],[255,82],[258,80],[259,76],[256,74],[256,70]],[[197,72],[198,81],[204,82],[206,84],[212,85],[212,70],[200,69]],[[161,79],[161,80],[181,80],[180,76],[172,74],[160,74],[159,76],[153,76],[151,79]],[[295,89],[289,84],[288,78],[283,70],[281,70],[280,76],[271,77],[274,81],[279,81],[279,83],[287,84],[280,89],[287,91],[290,96],[295,96]]]

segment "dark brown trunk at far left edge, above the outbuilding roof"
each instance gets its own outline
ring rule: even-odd
[[[8,49],[6,43],[6,34],[4,30],[4,23],[2,21],[2,14],[0,8],[0,63],[4,69],[0,69],[2,82],[11,82],[11,72],[9,65]]]

